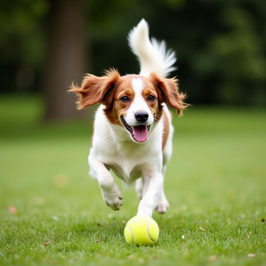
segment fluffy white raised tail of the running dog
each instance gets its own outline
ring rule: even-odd
[[[140,61],[140,75],[149,76],[156,72],[167,77],[175,70],[173,64],[176,62],[174,51],[166,50],[165,41],[159,42],[155,38],[150,41],[148,23],[142,19],[128,35],[129,46]]]

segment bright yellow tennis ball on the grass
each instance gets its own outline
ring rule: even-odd
[[[135,216],[127,222],[124,236],[129,244],[151,245],[158,239],[159,227],[149,216]]]

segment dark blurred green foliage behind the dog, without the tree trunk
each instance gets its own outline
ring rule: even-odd
[[[264,0],[90,0],[84,10],[88,72],[137,73],[126,35],[144,17],[151,36],[176,51],[173,75],[189,103],[266,105]],[[48,0],[1,2],[2,92],[40,91],[50,12]]]

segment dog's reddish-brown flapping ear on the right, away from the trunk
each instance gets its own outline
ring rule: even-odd
[[[182,115],[182,111],[188,106],[184,103],[186,94],[178,91],[178,80],[175,78],[160,77],[155,73],[151,73],[149,79],[155,84],[160,103],[168,103],[168,105],[176,109],[179,115]]]

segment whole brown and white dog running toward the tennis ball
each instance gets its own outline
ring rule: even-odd
[[[167,108],[179,115],[187,107],[178,80],[167,78],[175,70],[174,51],[164,41],[149,38],[142,19],[128,35],[129,46],[140,61],[140,74],[120,76],[109,69],[102,77],[87,74],[71,92],[79,95],[77,108],[100,103],[88,157],[90,175],[98,179],[103,200],[113,210],[123,195],[110,170],[127,184],[136,181],[140,197],[137,215],[152,216],[169,207],[163,188],[164,173],[172,155],[173,125]]]

